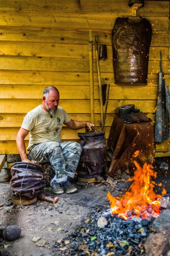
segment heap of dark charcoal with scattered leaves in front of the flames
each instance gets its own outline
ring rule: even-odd
[[[144,242],[154,232],[151,228],[155,218],[150,220],[134,217],[125,221],[118,216],[111,216],[111,211],[93,211],[71,236],[56,241],[56,255],[111,256],[144,255]],[[61,254],[59,254],[61,253]]]

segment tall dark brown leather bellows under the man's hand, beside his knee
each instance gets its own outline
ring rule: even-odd
[[[91,179],[105,169],[105,132],[78,133],[83,150],[77,167],[78,177]]]

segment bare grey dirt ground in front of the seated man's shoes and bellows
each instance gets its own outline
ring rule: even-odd
[[[160,163],[158,163],[160,165]],[[170,168],[169,168],[170,170]],[[170,195],[170,171],[159,170],[157,181],[163,182],[167,194]],[[109,209],[107,193],[111,191],[119,196],[129,182],[116,182],[114,186],[97,182],[81,183],[77,177],[73,180],[78,191],[73,194],[59,195],[59,201],[54,205],[50,202],[37,201],[30,205],[10,205],[11,193],[9,183],[0,184],[0,228],[7,225],[19,225],[21,235],[15,241],[1,239],[2,256],[51,256],[59,255],[54,244],[57,240],[71,234],[76,227],[85,222],[94,209]],[[52,196],[52,190],[44,194]],[[38,238],[39,237],[39,238]],[[35,242],[34,242],[34,241]],[[37,242],[36,242],[37,241]],[[6,253],[7,252],[7,253]]]

